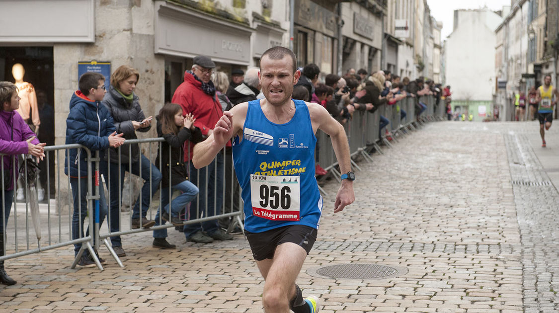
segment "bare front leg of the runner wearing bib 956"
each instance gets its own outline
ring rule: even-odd
[[[295,293],[295,279],[301,271],[307,253],[300,245],[283,243],[277,246],[273,260],[257,261],[266,280],[262,300],[266,313],[288,313]]]

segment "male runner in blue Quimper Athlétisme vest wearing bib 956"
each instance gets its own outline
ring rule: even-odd
[[[264,99],[225,111],[214,132],[194,148],[192,162],[211,163],[231,137],[244,200],[245,234],[266,280],[266,313],[316,313],[318,298],[302,297],[295,279],[316,240],[323,200],[315,179],[315,133],[330,135],[342,173],[334,213],[355,200],[354,174],[343,126],[318,104],[292,100],[301,73],[291,50],[268,49],[260,58]],[[286,140],[287,139],[287,142]]]

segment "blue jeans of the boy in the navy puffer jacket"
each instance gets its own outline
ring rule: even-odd
[[[95,193],[95,181],[92,178],[93,193]],[[72,215],[72,239],[83,238],[83,221],[87,217],[87,178],[70,178],[70,186],[72,187],[72,197],[74,200],[74,214]],[[79,189],[79,197],[78,197]],[[99,186],[99,224],[103,224],[105,216],[107,215],[107,200],[105,199],[105,189],[103,186]],[[79,205],[81,204],[81,210]],[[93,202],[94,205],[94,202]],[[80,216],[81,212],[81,216]],[[95,207],[93,207],[93,222],[95,222]],[[81,218],[80,218],[81,217]],[[86,236],[89,235],[89,227],[92,227],[92,236],[95,236],[95,225],[87,226]],[[82,248],[82,244],[74,244],[74,254],[77,255],[79,249]],[[84,251],[85,255],[89,255],[89,252]]]

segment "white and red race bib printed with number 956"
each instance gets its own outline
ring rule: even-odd
[[[300,177],[250,175],[252,214],[272,221],[299,221]]]

